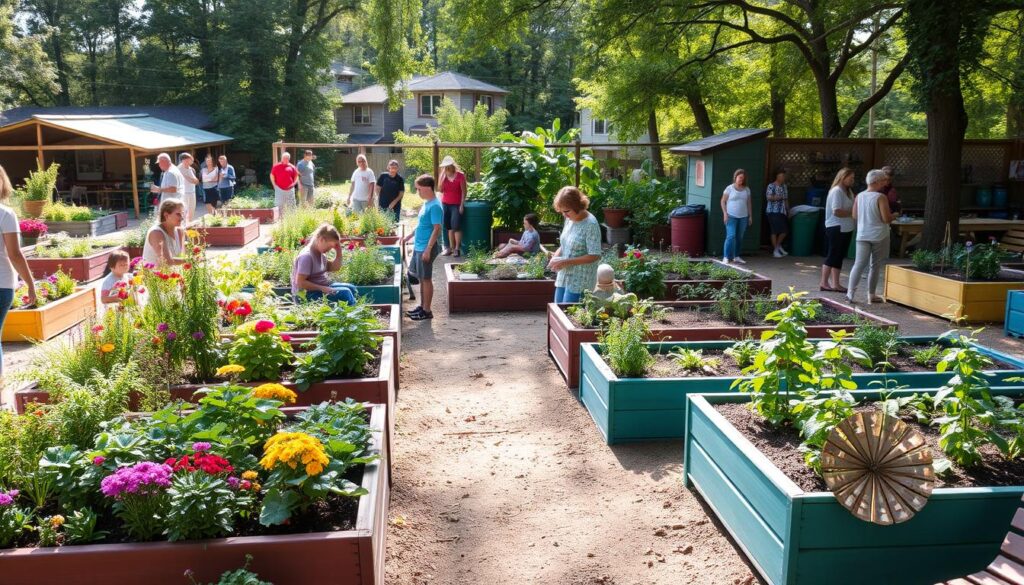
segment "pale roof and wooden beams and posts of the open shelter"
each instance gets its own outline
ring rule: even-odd
[[[75,151],[124,151],[131,167],[131,192],[135,217],[140,215],[138,159],[167,152],[225,147],[229,136],[168,122],[147,114],[108,116],[46,116],[0,128],[0,164],[16,154],[35,154],[37,167],[45,166],[45,154]]]

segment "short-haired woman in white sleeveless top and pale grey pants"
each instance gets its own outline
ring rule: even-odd
[[[886,174],[878,169],[867,172],[867,191],[857,195],[853,202],[853,218],[857,221],[857,255],[850,270],[846,298],[855,302],[860,277],[867,268],[867,304],[882,302],[874,294],[879,286],[879,273],[889,257],[889,224],[893,214],[889,202],[881,193]]]

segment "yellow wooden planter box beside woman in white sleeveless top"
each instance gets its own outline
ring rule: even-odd
[[[1013,290],[1024,290],[1024,281],[965,283],[912,266],[886,266],[887,301],[969,323],[1002,323],[1007,293]]]

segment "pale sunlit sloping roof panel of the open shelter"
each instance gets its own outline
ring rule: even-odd
[[[233,140],[230,136],[199,130],[147,114],[125,116],[46,116],[31,120],[137,151],[173,151],[186,147],[218,144]],[[27,120],[26,122],[30,122]]]

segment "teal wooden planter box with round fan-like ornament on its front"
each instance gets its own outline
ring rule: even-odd
[[[713,407],[749,400],[689,396],[683,480],[766,582],[925,585],[974,573],[995,557],[1024,487],[937,489],[906,523],[865,523],[830,492],[801,490]]]

